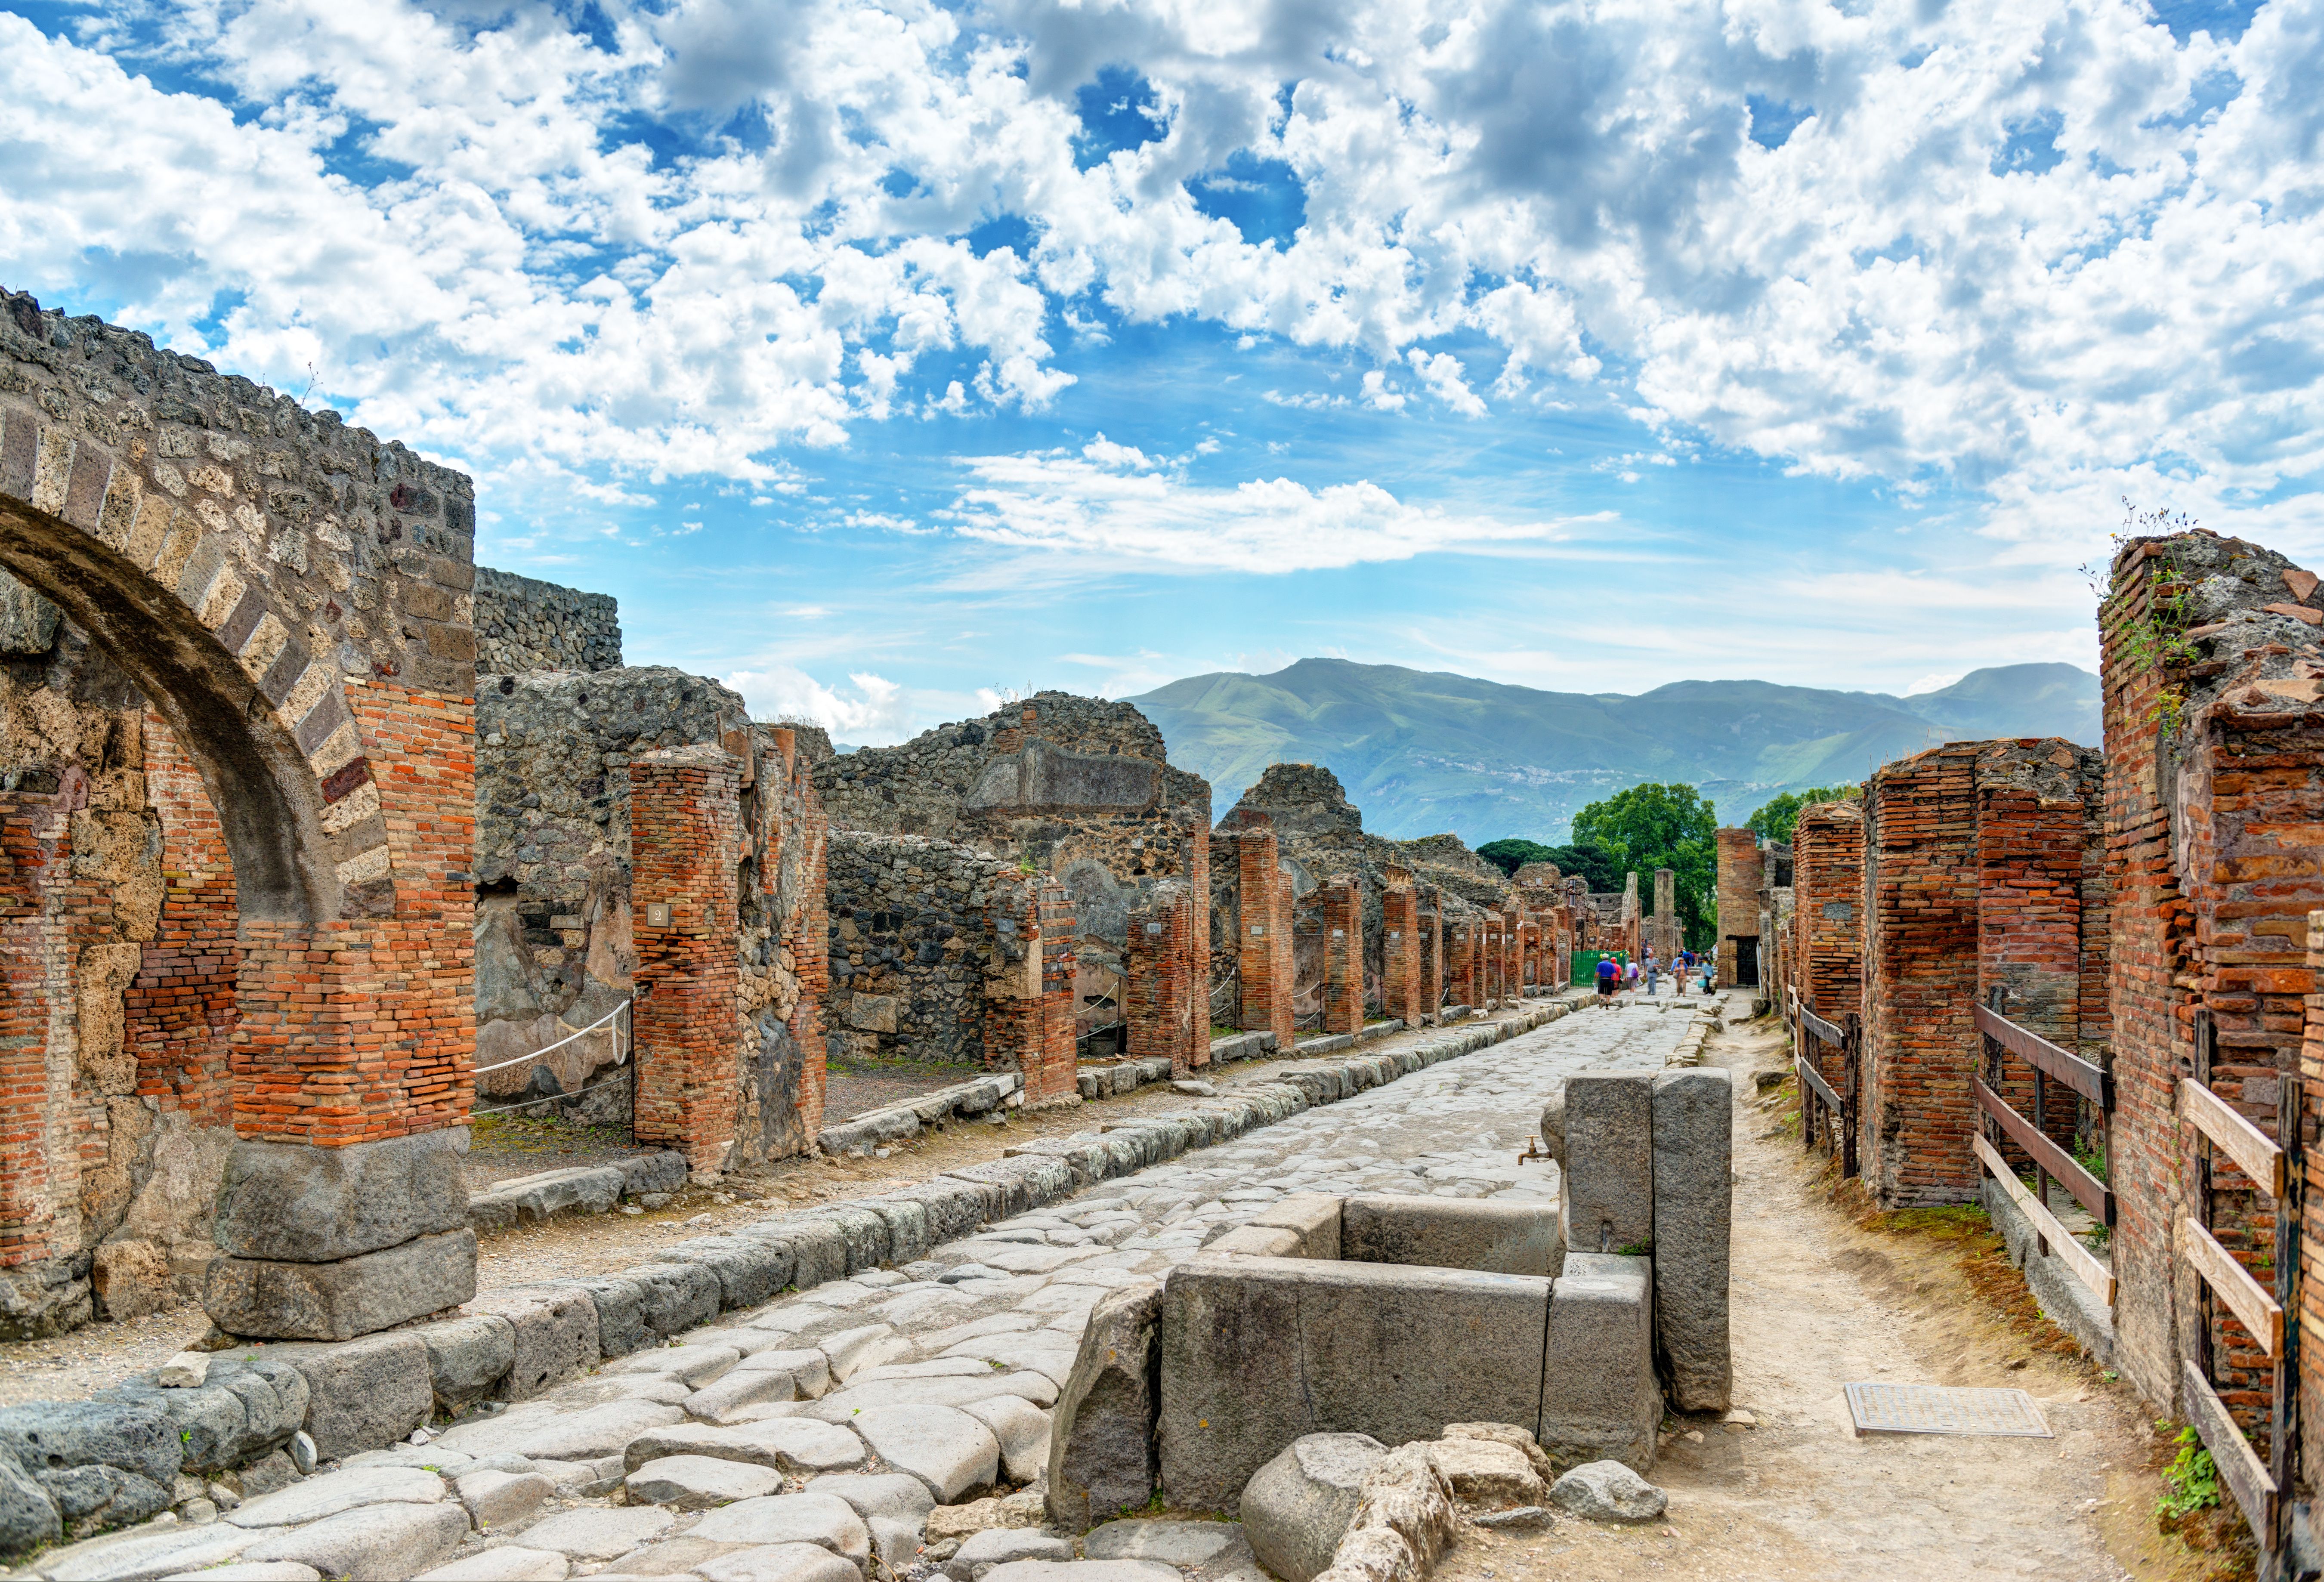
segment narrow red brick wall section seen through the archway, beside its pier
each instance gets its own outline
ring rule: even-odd
[[[170,725],[144,716],[146,801],[160,818],[163,908],[125,999],[137,1092],[193,1124],[223,1127],[235,1094],[235,869],[193,760]]]

